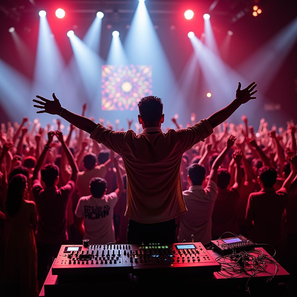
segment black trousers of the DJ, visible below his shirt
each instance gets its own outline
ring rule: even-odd
[[[176,241],[175,233],[175,219],[154,224],[142,224],[129,219],[127,242],[128,244],[170,244]]]

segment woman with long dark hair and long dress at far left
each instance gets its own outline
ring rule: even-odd
[[[5,296],[38,296],[37,252],[34,230],[36,206],[25,200],[27,178],[15,175],[9,182],[4,227]]]

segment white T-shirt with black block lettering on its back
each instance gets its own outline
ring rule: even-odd
[[[113,208],[118,201],[115,192],[94,198],[92,195],[81,197],[75,215],[83,218],[85,236],[90,244],[116,242],[113,226]]]

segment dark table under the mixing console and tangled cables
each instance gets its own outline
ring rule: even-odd
[[[263,248],[259,247],[256,248],[256,250],[260,250],[270,257]],[[209,250],[208,252],[214,259],[220,256],[220,254],[214,250]],[[257,253],[255,253],[255,256],[257,256]],[[273,260],[273,258],[271,259]],[[276,263],[276,265],[278,271],[273,279],[274,285],[287,282],[289,280],[289,273],[278,263]],[[255,287],[265,284],[268,277],[273,275],[274,272],[275,265],[273,263],[267,263],[264,269],[250,280],[250,286]],[[226,274],[226,271],[223,273]],[[238,293],[239,287],[241,287],[242,292],[244,292],[251,272],[242,271],[240,276],[235,272],[228,272],[228,275],[230,277],[225,277],[219,272],[210,274],[166,274],[161,271],[160,274],[154,272],[146,276],[108,274],[106,276],[94,276],[94,278],[89,280],[82,280],[80,277],[74,275],[70,282],[59,282],[58,276],[53,275],[52,269],[50,269],[39,296],[83,296],[87,294],[93,294],[93,296],[99,294],[123,296],[123,294],[127,293],[130,295],[141,294],[144,296],[159,296],[161,294],[176,296],[193,292],[205,292],[208,296],[217,296],[217,294],[221,295],[222,292],[228,292],[228,295],[230,295],[230,293]]]

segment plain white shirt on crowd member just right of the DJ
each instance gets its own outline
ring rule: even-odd
[[[183,192],[188,211],[181,215],[178,242],[189,242],[194,235],[195,242],[208,244],[211,241],[211,215],[217,199],[217,184],[209,180],[207,186],[191,186]]]

